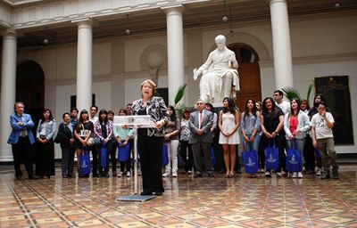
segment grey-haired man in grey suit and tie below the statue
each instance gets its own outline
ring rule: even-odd
[[[198,99],[196,110],[191,113],[189,127],[191,130],[191,137],[189,143],[191,144],[194,154],[195,177],[201,177],[204,167],[209,177],[213,177],[213,166],[211,159],[211,144],[213,141],[211,127],[213,124],[212,112],[206,110],[206,102]]]

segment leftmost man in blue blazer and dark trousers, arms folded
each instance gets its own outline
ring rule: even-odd
[[[34,175],[31,155],[29,151],[30,144],[35,142],[31,128],[35,125],[29,114],[23,112],[25,105],[22,102],[16,102],[14,105],[15,113],[10,116],[10,125],[12,132],[7,143],[12,144],[13,164],[15,166],[15,178],[21,180],[21,156],[24,158],[26,170],[29,179],[37,179]]]

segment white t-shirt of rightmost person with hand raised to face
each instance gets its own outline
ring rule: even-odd
[[[326,112],[326,117],[331,123],[335,123],[331,113]],[[333,138],[332,128],[329,128],[324,118],[319,113],[316,113],[311,118],[311,126],[315,127],[316,139]]]

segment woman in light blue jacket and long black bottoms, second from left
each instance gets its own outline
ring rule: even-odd
[[[44,109],[36,131],[36,175],[50,178],[54,175],[54,131],[56,124],[51,110]]]

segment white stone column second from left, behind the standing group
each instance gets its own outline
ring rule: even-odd
[[[77,46],[77,109],[86,109],[92,105],[92,20],[78,21]]]

